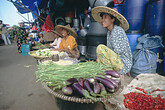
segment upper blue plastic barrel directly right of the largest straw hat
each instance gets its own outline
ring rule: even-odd
[[[123,15],[128,20],[128,31],[141,32],[144,29],[145,6],[148,0],[126,0]]]

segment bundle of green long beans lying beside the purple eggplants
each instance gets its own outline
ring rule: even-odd
[[[55,88],[62,88],[65,85],[65,81],[70,78],[90,78],[95,76],[102,77],[105,73],[105,69],[109,67],[101,65],[99,63],[90,61],[77,63],[74,65],[62,66],[49,62],[48,64],[39,64],[38,71],[36,71],[36,77],[38,81],[46,82],[48,86],[54,86]],[[98,74],[101,73],[101,74]]]

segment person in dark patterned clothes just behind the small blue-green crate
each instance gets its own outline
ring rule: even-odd
[[[24,22],[19,21],[19,29],[17,29],[17,47],[18,47],[18,52],[21,53],[21,44],[26,43],[27,41],[27,34],[26,34],[26,29],[24,28]]]

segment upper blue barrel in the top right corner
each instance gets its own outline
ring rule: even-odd
[[[147,6],[146,33],[150,35],[165,35],[165,1],[157,0]]]

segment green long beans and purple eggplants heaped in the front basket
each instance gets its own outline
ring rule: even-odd
[[[120,74],[108,69],[93,61],[67,66],[40,63],[36,78],[64,95],[95,100],[112,95],[120,86]]]

